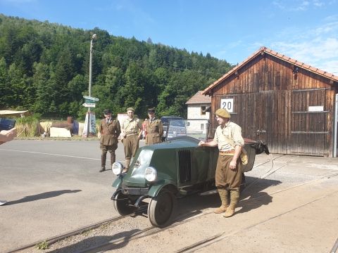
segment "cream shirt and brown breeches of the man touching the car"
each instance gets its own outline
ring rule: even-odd
[[[222,128],[222,126],[217,127],[213,140],[218,143],[220,155],[218,155],[215,183],[217,188],[235,189],[241,186],[242,162],[240,158],[238,158],[236,169],[230,169],[230,162],[234,156],[234,147],[232,147],[225,136],[230,138],[234,145],[244,145],[242,129],[239,125],[234,122],[227,122],[224,128]]]

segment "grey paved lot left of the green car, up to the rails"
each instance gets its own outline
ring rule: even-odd
[[[124,160],[122,143],[116,155]],[[115,176],[98,172],[99,141],[15,140],[0,145],[0,161],[0,200],[8,201],[0,207],[0,252],[117,215]]]

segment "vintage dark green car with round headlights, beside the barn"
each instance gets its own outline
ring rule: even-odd
[[[199,147],[199,141],[180,136],[139,148],[127,173],[122,162],[115,162],[118,178],[111,200],[116,211],[122,216],[147,212],[153,226],[164,227],[173,218],[177,197],[215,188],[218,148]],[[263,143],[245,140],[249,163],[243,172],[252,169],[258,144]]]

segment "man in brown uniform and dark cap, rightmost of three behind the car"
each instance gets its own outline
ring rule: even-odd
[[[156,118],[155,108],[148,109],[149,120],[146,121],[146,145],[160,143],[163,136],[163,124]]]

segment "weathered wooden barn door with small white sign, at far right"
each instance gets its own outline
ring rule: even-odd
[[[292,153],[325,155],[325,89],[292,91]]]

